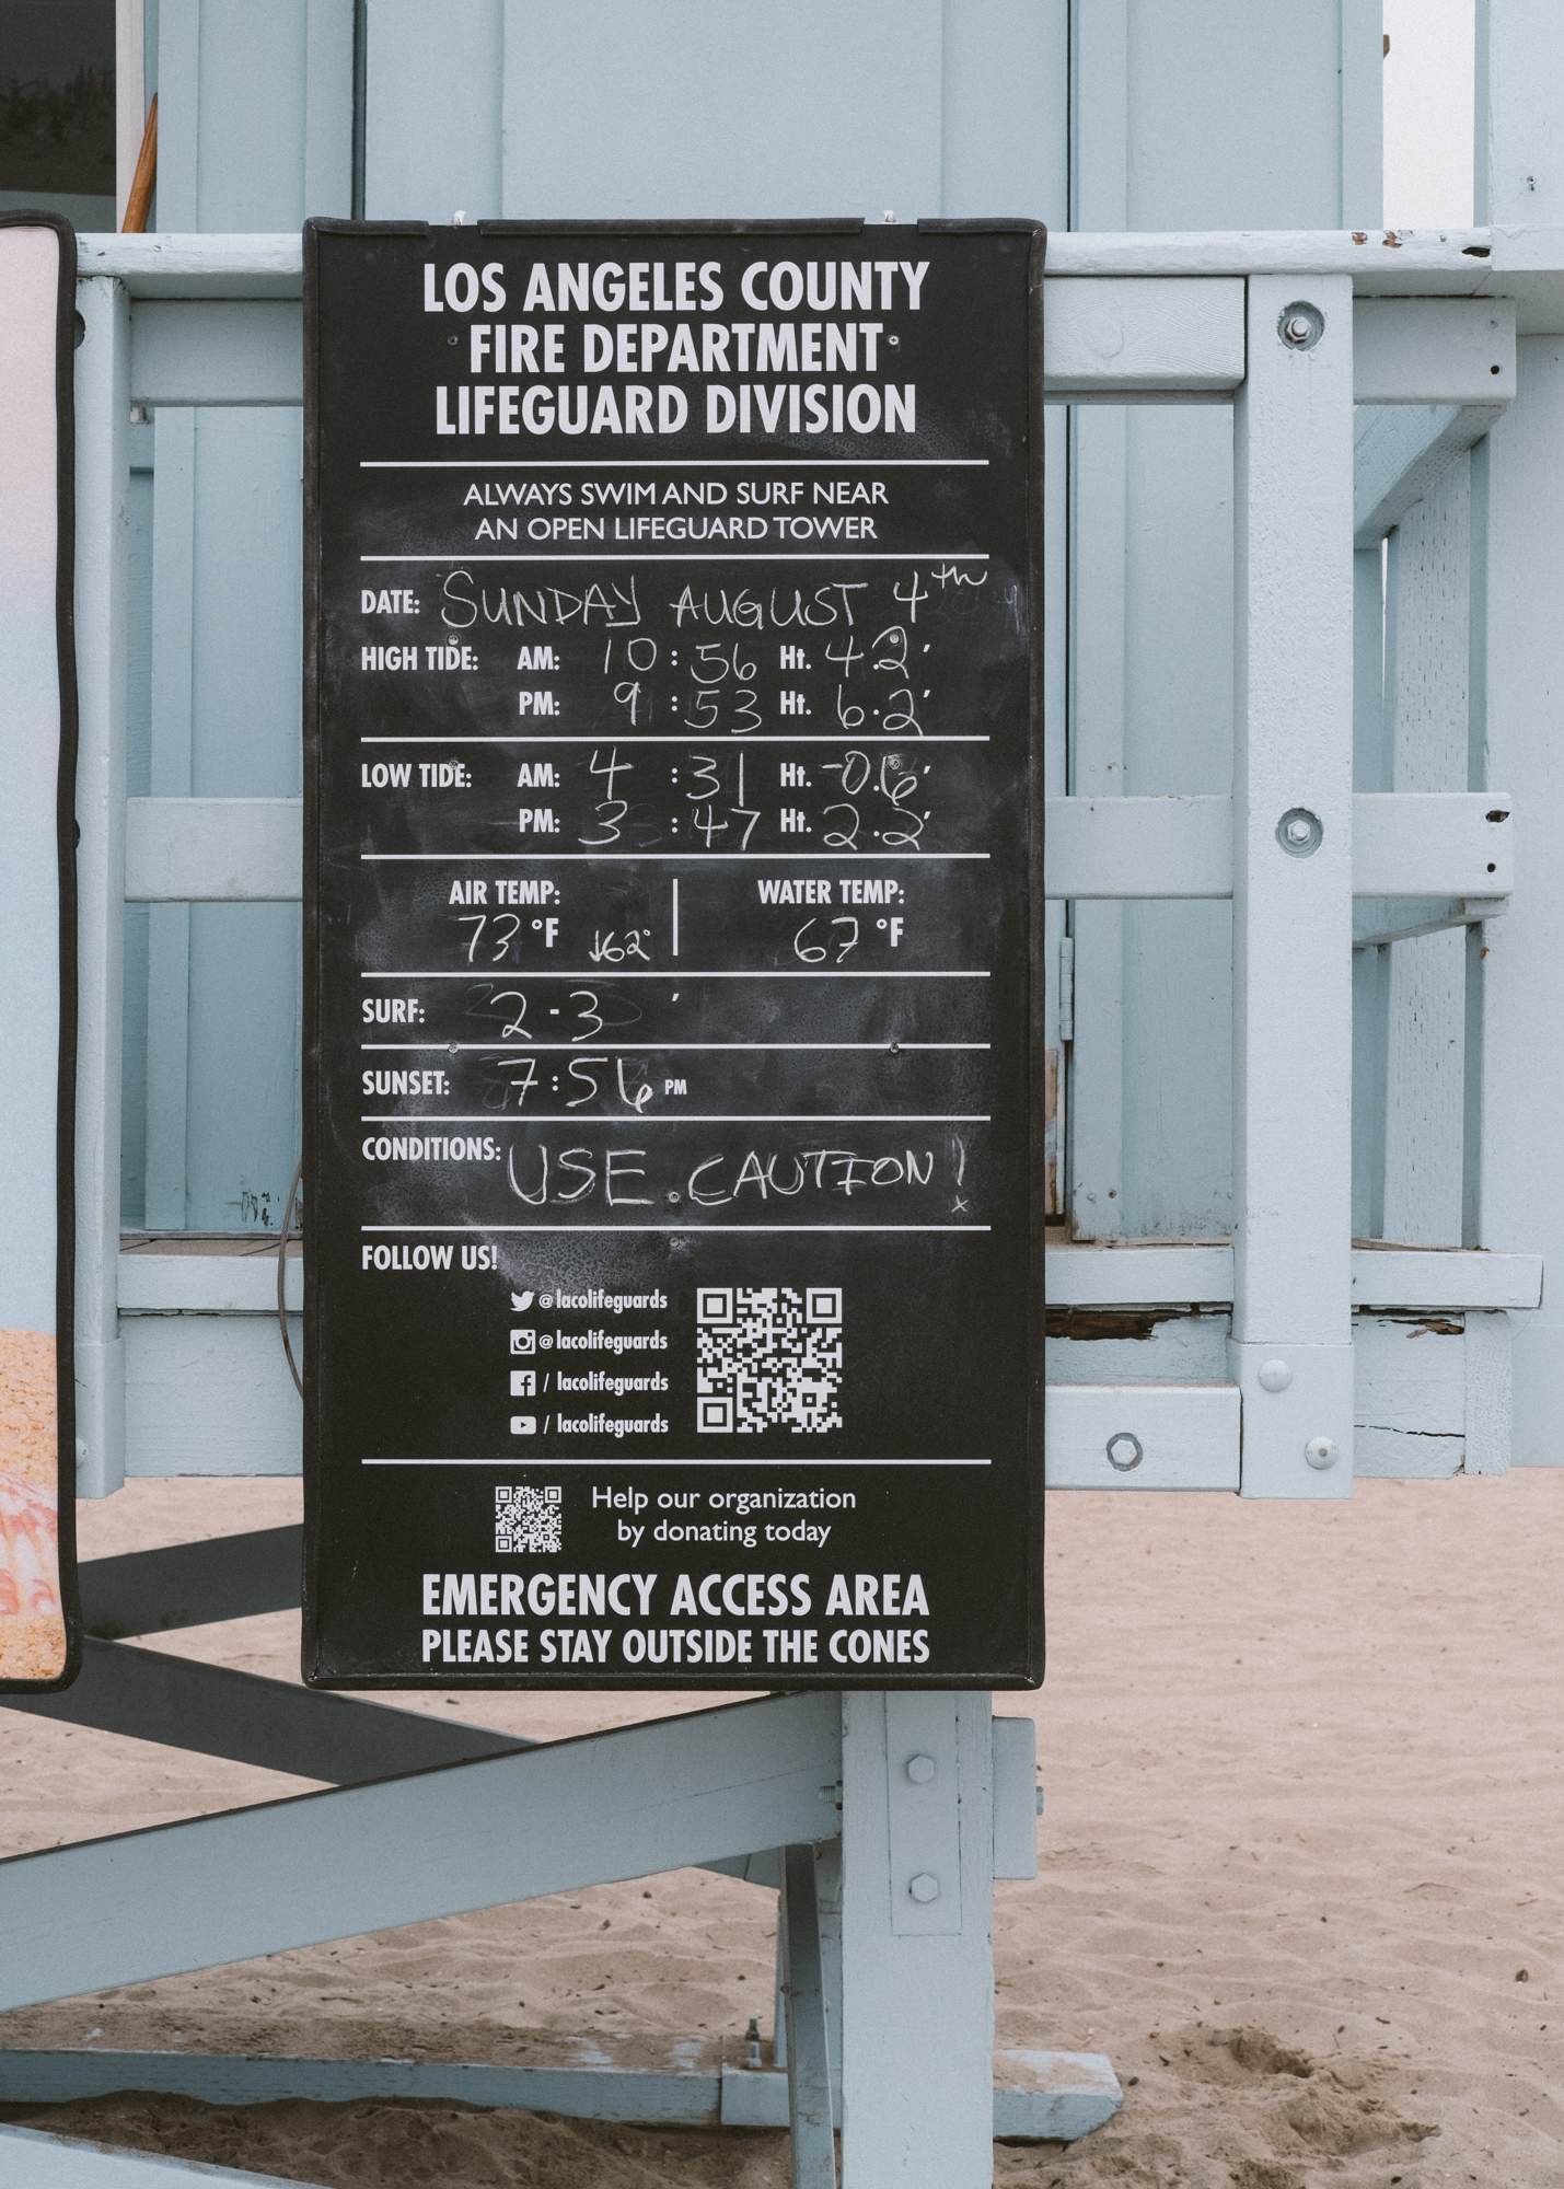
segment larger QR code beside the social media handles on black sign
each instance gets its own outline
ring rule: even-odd
[[[841,1292],[701,1285],[694,1423],[708,1436],[841,1427]]]

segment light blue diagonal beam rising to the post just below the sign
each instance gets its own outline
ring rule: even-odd
[[[0,2010],[830,1839],[839,1780],[839,1696],[789,1694],[20,1854]]]

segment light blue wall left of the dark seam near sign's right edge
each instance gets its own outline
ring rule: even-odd
[[[353,46],[350,0],[162,0],[158,225],[353,210]],[[361,83],[372,219],[1065,219],[1065,0],[368,0]],[[294,795],[298,414],[169,412],[153,431],[131,788]],[[1062,425],[1056,455],[1062,528]],[[1056,593],[1062,725],[1062,569]],[[298,1145],[296,913],[138,913],[127,987],[127,1224],[276,1226]]]

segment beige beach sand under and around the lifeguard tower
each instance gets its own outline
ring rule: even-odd
[[[294,1484],[142,1484],[85,1552],[289,1519]],[[1564,1475],[1349,1506],[1080,1495],[1049,1510],[1043,1872],[1001,1885],[999,2042],[1106,2051],[1119,2119],[999,2150],[1036,2189],[1564,2182]],[[296,1620],[160,1646],[291,1677]],[[407,1699],[537,1736],[620,1696]],[[688,1699],[662,1699],[677,1707]],[[0,1714],[0,1852],[302,1782]],[[771,1898],[679,1874],[9,2016],[7,2045],[517,2060],[561,2034],[769,2012]],[[456,2106],[11,2115],[353,2189],[780,2189],[784,2139]],[[942,2189],[931,2182],[929,2189]]]

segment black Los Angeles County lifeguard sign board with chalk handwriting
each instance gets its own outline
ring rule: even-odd
[[[320,1686],[1043,1664],[1043,232],[307,230]]]

